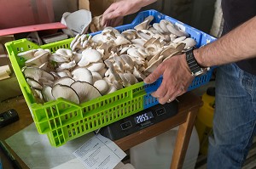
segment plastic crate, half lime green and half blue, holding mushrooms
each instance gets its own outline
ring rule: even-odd
[[[148,17],[148,15],[154,16],[152,23],[159,23],[160,20],[165,19],[179,25],[184,31],[189,33],[190,37],[195,39],[198,48],[207,42],[214,41],[213,37],[174,20],[165,14],[160,14],[155,10],[143,11],[137,15],[131,24],[121,25],[116,27],[116,29],[119,31],[132,29]],[[96,33],[92,33],[91,35],[96,35]],[[17,54],[33,48],[48,48],[52,53],[55,53],[58,48],[69,48],[72,40],[73,38],[38,46],[26,39],[21,39],[8,42],[5,45],[38,132],[47,134],[49,143],[55,147],[66,144],[69,140],[78,138],[88,132],[95,131],[96,129],[105,127],[108,124],[158,104],[158,100],[154,99],[150,93],[160,87],[162,81],[162,78],[160,78],[153,84],[139,82],[83,104],[73,104],[66,99],[56,99],[44,104],[38,104],[20,70],[26,60],[19,58]],[[193,90],[196,87],[206,84],[210,81],[211,76],[212,69],[206,75],[196,77],[188,90]]]

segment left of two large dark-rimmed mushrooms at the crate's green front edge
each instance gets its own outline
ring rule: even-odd
[[[72,101],[75,104],[80,103],[79,95],[72,87],[56,84],[54,87],[52,87],[51,93],[55,99],[63,98]]]

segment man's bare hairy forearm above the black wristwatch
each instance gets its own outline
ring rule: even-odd
[[[206,67],[256,57],[256,17],[217,41],[195,50],[194,54],[198,63]]]

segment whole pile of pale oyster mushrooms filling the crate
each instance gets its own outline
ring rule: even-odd
[[[32,49],[22,72],[38,103],[64,98],[75,104],[142,82],[166,59],[195,47],[195,40],[169,20],[119,32],[106,27],[95,36],[77,35],[70,49]]]

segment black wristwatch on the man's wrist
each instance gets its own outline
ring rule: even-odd
[[[186,51],[186,60],[187,64],[189,65],[189,70],[191,71],[192,76],[201,76],[207,73],[207,70],[210,70],[209,67],[202,67],[199,65],[195,59],[193,54],[194,48],[189,49]]]

